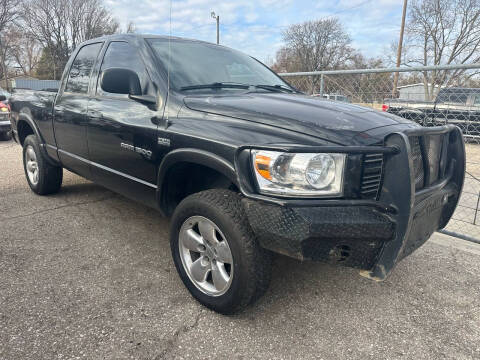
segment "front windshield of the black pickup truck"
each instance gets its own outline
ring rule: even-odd
[[[148,39],[165,69],[170,86],[180,91],[245,91],[256,89],[291,91],[280,77],[252,57],[223,46],[194,40]],[[170,52],[170,55],[169,55]]]

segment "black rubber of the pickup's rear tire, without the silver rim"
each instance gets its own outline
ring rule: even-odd
[[[27,172],[27,161],[25,154],[29,147],[33,148],[37,161],[38,182],[36,184],[30,180]],[[23,169],[25,171],[25,177],[27,178],[28,185],[36,194],[48,195],[56,193],[60,190],[63,180],[63,168],[48,163],[42,151],[40,151],[40,145],[35,135],[27,136],[23,142]]]

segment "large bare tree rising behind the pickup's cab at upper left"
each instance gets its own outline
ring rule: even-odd
[[[51,52],[55,78],[78,44],[119,28],[101,0],[25,0],[22,20],[28,34]]]

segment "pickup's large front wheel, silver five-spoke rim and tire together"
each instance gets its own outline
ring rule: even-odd
[[[175,210],[170,244],[190,293],[223,314],[238,312],[268,288],[271,254],[256,241],[241,204],[228,190],[207,190]]]

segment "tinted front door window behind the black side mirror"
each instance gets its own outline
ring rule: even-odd
[[[148,75],[145,71],[142,59],[138,55],[138,50],[127,42],[114,41],[108,45],[100,71],[102,72],[110,68],[123,68],[136,72],[140,79],[141,88],[143,90],[148,90],[146,89],[148,85]],[[107,94],[107,92],[101,89],[100,83],[97,84],[97,92],[99,94]],[[144,91],[144,93],[148,93],[148,91]]]

